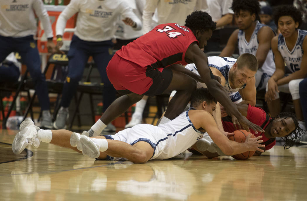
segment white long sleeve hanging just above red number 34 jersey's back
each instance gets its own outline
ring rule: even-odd
[[[146,0],[142,16],[144,24],[143,34],[151,31],[152,17],[157,8],[158,2],[159,0]]]

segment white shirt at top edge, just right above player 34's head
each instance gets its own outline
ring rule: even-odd
[[[223,15],[234,14],[231,9],[232,0],[207,0],[208,9],[206,12],[211,15],[212,21],[218,21]],[[218,27],[216,29],[222,29]]]

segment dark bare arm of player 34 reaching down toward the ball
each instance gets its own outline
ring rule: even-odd
[[[217,82],[215,79],[212,79],[213,74],[208,67],[208,58],[204,52],[200,50],[196,43],[192,43],[185,54],[185,60],[188,63],[195,63],[196,68],[205,84],[208,87],[209,92],[216,98],[218,102],[220,102],[227,111],[231,114],[235,115],[238,118],[240,124],[243,126],[245,130],[249,130],[249,128],[260,132],[264,132],[258,125],[255,125],[248,121],[245,117],[239,113],[235,104],[229,98],[227,92],[224,87]]]

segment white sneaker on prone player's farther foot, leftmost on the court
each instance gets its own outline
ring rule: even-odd
[[[27,145],[38,147],[40,144],[37,139],[37,129],[35,126],[25,127],[17,133],[12,143],[14,154],[20,154]]]

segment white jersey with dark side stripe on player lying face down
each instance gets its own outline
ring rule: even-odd
[[[190,109],[189,109],[190,110]],[[203,132],[196,130],[188,112],[181,113],[170,122],[159,125],[165,136],[156,143],[156,149],[151,159],[167,159],[184,152],[203,136]]]

